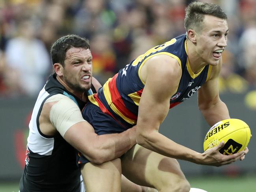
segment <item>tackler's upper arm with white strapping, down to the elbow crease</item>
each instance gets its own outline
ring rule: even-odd
[[[74,148],[83,153],[89,160],[95,156],[93,151],[97,135],[76,103],[63,98],[50,109],[50,121],[61,136]]]

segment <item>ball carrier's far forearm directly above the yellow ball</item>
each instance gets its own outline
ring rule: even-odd
[[[228,108],[221,100],[207,107],[199,107],[199,109],[210,126],[221,120],[230,118]]]

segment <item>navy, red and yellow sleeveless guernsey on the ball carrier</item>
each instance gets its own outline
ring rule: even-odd
[[[173,57],[182,68],[182,77],[177,92],[170,96],[170,109],[191,97],[209,79],[210,65],[206,65],[197,74],[192,72],[187,59],[186,35],[184,34],[139,55],[137,59],[110,78],[97,94],[89,96],[90,102],[100,107],[103,113],[108,114],[124,127],[129,128],[135,125],[139,101],[145,85],[140,75],[141,68],[148,59],[161,54]]]

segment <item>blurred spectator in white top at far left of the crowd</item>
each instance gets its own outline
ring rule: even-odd
[[[35,28],[31,20],[22,20],[18,26],[18,35],[10,39],[6,46],[6,64],[9,71],[15,71],[15,84],[22,94],[35,96],[45,81],[49,70],[50,57],[45,44],[35,37]]]

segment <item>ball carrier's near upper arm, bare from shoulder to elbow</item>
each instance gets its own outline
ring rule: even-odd
[[[178,62],[167,55],[148,61],[137,121],[137,130],[141,132],[143,129],[158,130],[168,113],[170,98],[176,92],[181,76]]]

